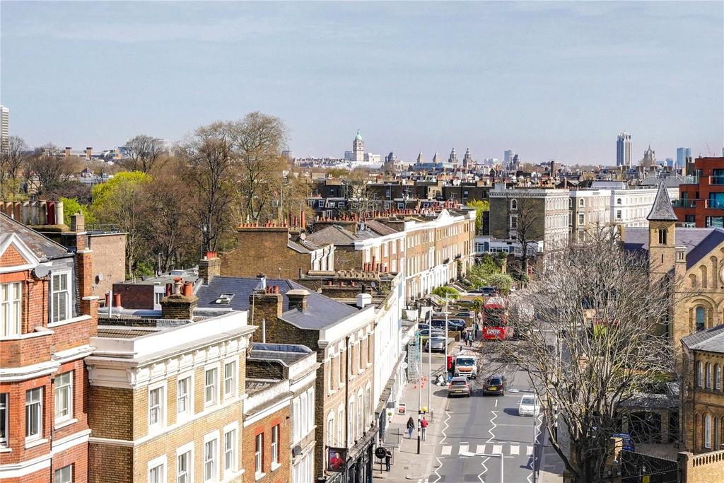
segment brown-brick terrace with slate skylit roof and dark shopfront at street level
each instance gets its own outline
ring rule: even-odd
[[[374,307],[353,307],[290,280],[212,277],[198,305],[249,311],[263,343],[306,345],[316,353],[314,471],[327,482],[371,477],[377,428],[373,417]],[[222,296],[224,295],[224,296]],[[329,448],[345,455],[331,471]]]

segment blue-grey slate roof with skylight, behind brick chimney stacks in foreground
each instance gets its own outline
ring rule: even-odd
[[[257,278],[245,277],[214,277],[209,285],[201,285],[196,296],[198,297],[199,307],[219,308],[231,307],[234,310],[249,310],[249,295],[259,285]],[[357,313],[358,309],[350,307],[344,303],[332,300],[319,293],[308,290],[307,287],[299,285],[287,279],[266,279],[267,287],[271,285],[279,286],[279,293],[282,294],[282,317],[285,322],[300,327],[301,329],[321,330],[332,324],[346,319],[348,316]],[[287,292],[289,290],[307,290],[309,297],[307,298],[308,310],[301,312],[296,309],[289,309],[289,298]],[[227,305],[219,305],[216,299],[222,293],[233,293],[235,297]],[[251,323],[251,321],[250,321]]]

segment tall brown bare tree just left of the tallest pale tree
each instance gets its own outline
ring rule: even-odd
[[[232,138],[228,123],[199,127],[179,149],[184,177],[193,193],[195,224],[203,251],[216,251],[233,226],[230,206],[235,192]]]

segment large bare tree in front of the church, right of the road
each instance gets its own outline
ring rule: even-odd
[[[648,274],[645,256],[596,236],[558,253],[518,295],[534,314],[513,321],[523,329],[518,364],[576,482],[605,479],[620,408],[673,374],[666,323],[674,282],[649,283]]]

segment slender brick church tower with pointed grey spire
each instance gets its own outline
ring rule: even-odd
[[[659,183],[659,190],[647,220],[649,220],[650,281],[657,282],[674,268],[676,247],[674,230],[678,220],[663,182]]]

